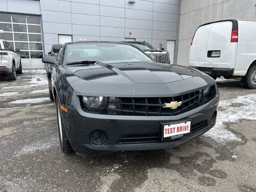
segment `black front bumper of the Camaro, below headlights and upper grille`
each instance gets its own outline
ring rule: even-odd
[[[68,140],[77,154],[93,155],[120,150],[155,150],[179,147],[211,129],[216,123],[218,100],[219,95],[211,102],[177,116],[118,116],[86,113],[81,109],[77,98],[74,109],[68,108],[68,113],[63,112],[62,115]],[[175,124],[186,120],[191,120],[191,133],[177,140],[162,141],[163,124]],[[95,130],[108,134],[106,143],[98,146],[90,141],[90,133]],[[145,140],[145,135],[150,134],[154,135],[152,140]],[[136,138],[125,140],[125,137],[129,138],[131,135]]]

